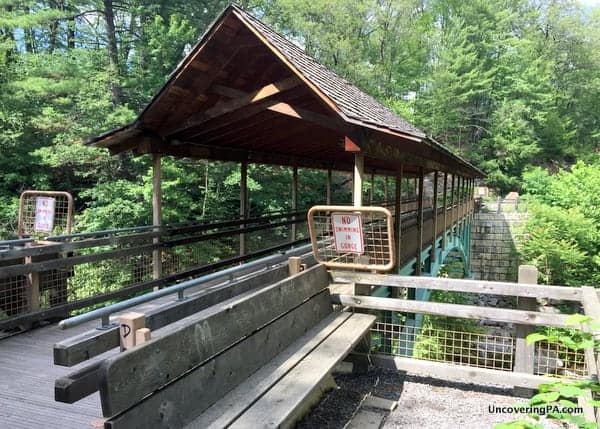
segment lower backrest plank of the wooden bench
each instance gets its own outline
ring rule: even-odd
[[[222,312],[225,316],[228,313],[227,311]],[[208,351],[214,358],[207,362],[201,361],[204,363],[195,368],[190,364],[188,368],[193,368],[191,371],[145,398],[134,408],[108,420],[105,427],[133,429],[185,426],[330,313],[329,293],[323,291],[252,335],[246,338],[238,337],[243,340],[216,356],[214,352],[219,351],[220,348],[216,342],[224,344],[223,340],[225,339],[221,337],[228,331],[228,327],[222,327],[221,332],[200,330],[198,335],[203,338],[199,338],[199,342],[191,343],[189,346],[203,349],[204,351],[201,353]],[[233,317],[229,319],[229,322],[232,319]],[[256,325],[253,327],[255,328]],[[285,335],[282,334],[284,332]],[[230,338],[236,337],[237,334],[239,331]],[[147,348],[150,344],[152,342],[138,350]],[[177,350],[185,351],[184,349]],[[159,372],[159,367],[155,366],[154,371]],[[169,377],[166,377],[167,375]],[[163,377],[173,379],[175,374],[167,373],[163,374]],[[115,382],[118,381],[115,380]],[[135,381],[130,380],[130,382]],[[207,389],[207,386],[210,388]],[[149,393],[151,392],[153,390]],[[136,397],[135,399],[141,398]],[[131,403],[129,400],[126,402]]]

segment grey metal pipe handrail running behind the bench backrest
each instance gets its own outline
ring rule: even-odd
[[[264,257],[261,259],[257,259],[256,261],[248,262],[246,264],[238,265],[238,266],[231,267],[231,268],[226,268],[222,271],[217,271],[215,273],[207,274],[202,277],[198,277],[198,278],[195,278],[192,280],[187,280],[185,282],[179,283],[174,286],[169,286],[164,289],[149,292],[149,293],[146,293],[141,296],[136,296],[134,298],[127,299],[125,301],[117,302],[115,304],[111,304],[111,305],[108,305],[103,308],[92,310],[85,314],[81,314],[78,316],[74,316],[74,317],[70,317],[68,319],[61,320],[58,323],[58,326],[61,329],[68,329],[68,328],[72,328],[74,326],[81,325],[82,323],[89,322],[90,320],[99,319],[99,318],[102,319],[103,326],[110,326],[110,323],[108,320],[109,316],[118,311],[122,311],[127,308],[131,308],[133,306],[143,304],[145,302],[152,301],[154,299],[157,299],[157,298],[160,298],[160,297],[163,297],[166,295],[171,295],[174,293],[181,293],[191,287],[199,286],[202,283],[205,283],[205,282],[208,282],[211,280],[215,280],[215,279],[218,279],[221,277],[228,277],[232,274],[235,274],[242,270],[246,270],[248,268],[258,267],[261,265],[266,265],[268,267],[270,264],[273,264],[276,262],[281,262],[282,260],[286,259],[289,256],[302,254],[310,249],[311,249],[311,245],[306,244],[304,246],[297,247],[290,251],[282,252],[279,255],[267,256],[267,257]]]

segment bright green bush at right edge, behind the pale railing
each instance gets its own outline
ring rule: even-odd
[[[598,284],[600,163],[579,162],[554,176],[534,168],[524,179],[532,203],[520,259],[537,266],[544,283]]]

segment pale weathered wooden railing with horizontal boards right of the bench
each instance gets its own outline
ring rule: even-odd
[[[541,312],[536,309],[540,300],[552,300],[562,303],[571,303],[574,307],[580,307],[583,313],[600,321],[600,298],[598,291],[592,287],[567,287],[537,285],[537,271],[535,267],[520,267],[520,283],[490,282],[478,280],[459,280],[451,278],[434,277],[408,277],[399,275],[384,275],[372,273],[358,273],[349,271],[333,270],[330,272],[331,282],[337,290],[344,290],[343,284],[366,286],[370,294],[375,289],[386,288],[390,290],[427,289],[445,292],[460,292],[471,294],[490,294],[517,299],[517,308],[495,308],[491,306],[478,306],[467,304],[451,304],[445,302],[423,302],[408,299],[380,297],[385,295],[378,293],[377,296],[351,295],[335,293],[332,295],[333,302],[345,307],[371,310],[377,312],[380,317],[386,319],[387,328],[383,336],[388,342],[401,342],[405,326],[401,326],[399,316],[386,317],[385,314],[421,314],[432,316],[443,316],[461,320],[491,321],[513,324],[515,329],[514,342],[510,343],[512,357],[506,362],[512,363],[510,368],[493,369],[490,367],[471,366],[467,362],[445,362],[416,359],[412,355],[402,356],[399,353],[375,353],[372,360],[375,365],[395,368],[402,371],[432,376],[452,381],[471,380],[476,383],[495,383],[499,385],[511,385],[519,394],[523,390],[536,389],[540,384],[556,380],[555,374],[534,374],[534,359],[536,359],[534,344],[526,341],[535,327],[557,327],[576,328],[568,324],[568,315],[555,312]],[[391,296],[398,296],[390,292]],[[391,322],[390,322],[391,320]],[[390,328],[390,326],[395,326]],[[374,332],[375,332],[374,328]],[[415,328],[416,329],[416,328]],[[419,328],[420,329],[420,328]],[[381,332],[379,332],[381,333]],[[453,332],[462,337],[460,332]],[[600,335],[600,331],[595,332]],[[418,333],[417,333],[418,335]],[[483,334],[485,336],[485,334]],[[457,345],[456,347],[461,347]],[[512,348],[514,347],[514,350]],[[557,349],[558,350],[558,349]],[[566,348],[565,348],[566,350]],[[412,351],[412,349],[411,349]],[[508,352],[508,351],[504,351]],[[457,352],[453,352],[458,355]],[[573,353],[573,352],[569,352]],[[598,380],[598,368],[600,368],[599,355],[593,349],[587,349],[580,353],[584,358],[585,369],[579,377]],[[514,359],[513,359],[514,358]],[[538,356],[537,359],[540,359]],[[548,356],[546,356],[548,359]],[[558,357],[557,357],[558,359]],[[571,374],[570,377],[576,376]],[[591,397],[591,392],[588,396]],[[580,400],[580,406],[588,420],[596,420],[595,411],[585,400]],[[598,420],[600,423],[600,420]]]

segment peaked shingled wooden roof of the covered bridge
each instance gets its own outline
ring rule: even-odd
[[[162,153],[404,174],[480,170],[236,6],[227,7],[131,124],[89,144]]]

